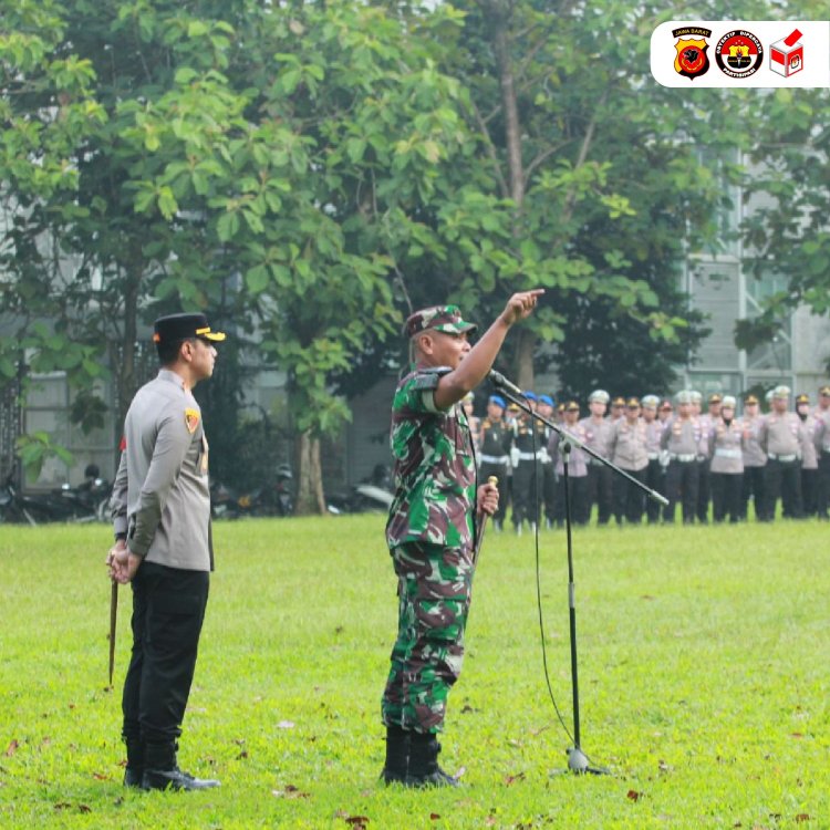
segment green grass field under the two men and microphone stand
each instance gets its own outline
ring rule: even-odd
[[[490,533],[442,764],[378,785],[395,584],[383,517],[216,527],[179,760],[219,790],[121,786],[122,589],[106,688],[104,527],[0,527],[0,827],[830,828],[830,568],[817,522],[574,536],[582,746],[561,775],[531,537]],[[541,535],[553,692],[571,726],[564,535]]]

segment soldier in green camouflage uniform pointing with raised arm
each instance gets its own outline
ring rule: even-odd
[[[532,312],[541,293],[513,294],[475,346],[467,341],[475,326],[455,305],[423,309],[406,321],[414,365],[392,405],[395,497],[386,522],[400,598],[382,702],[386,784],[457,785],[438,766],[436,734],[461,667],[476,516],[498,507],[496,487],[476,487],[458,402],[487,376],[508,330]]]

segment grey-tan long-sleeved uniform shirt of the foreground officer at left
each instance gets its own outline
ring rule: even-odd
[[[209,571],[208,445],[199,405],[175,372],[138,390],[124,439],[110,500],[116,535],[148,562]]]

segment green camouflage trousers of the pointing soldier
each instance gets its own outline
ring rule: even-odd
[[[471,551],[413,542],[392,551],[398,580],[397,641],[383,693],[386,726],[440,732],[464,660]]]

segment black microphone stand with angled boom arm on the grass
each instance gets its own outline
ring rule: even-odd
[[[627,479],[632,484],[635,484],[641,490],[644,490],[649,498],[658,501],[662,505],[667,505],[668,499],[656,490],[652,490],[642,481],[639,481],[634,476],[626,473],[624,469],[618,467],[613,461],[610,461],[604,456],[601,456],[595,449],[587,447],[575,435],[572,435],[567,429],[563,429],[559,424],[554,424],[543,415],[535,412],[525,400],[523,395],[517,395],[513,390],[508,386],[509,382],[500,383],[501,376],[497,373],[491,373],[490,378],[495,385],[512,403],[515,403],[520,409],[530,415],[531,418],[536,418],[546,426],[550,427],[561,442],[560,449],[562,452],[562,477],[564,480],[564,519],[566,519],[566,535],[568,544],[568,614],[570,622],[570,641],[571,641],[571,689],[573,693],[573,746],[568,748],[568,769],[571,772],[584,774],[591,772],[592,775],[609,775],[609,770],[604,767],[594,767],[590,764],[588,756],[582,751],[582,737],[580,734],[580,720],[579,720],[579,671],[577,661],[577,592],[573,582],[573,543],[571,540],[571,499],[570,499],[570,479],[568,477],[568,465],[572,447],[588,453],[591,457],[598,459],[606,467],[610,467],[618,475]],[[512,384],[510,384],[512,386]],[[540,612],[541,613],[541,610]]]

